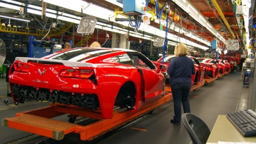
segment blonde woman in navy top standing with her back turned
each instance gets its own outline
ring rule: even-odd
[[[176,58],[172,60],[167,69],[174,102],[174,117],[170,122],[180,125],[181,103],[184,113],[190,113],[188,95],[192,84],[191,75],[195,74],[195,66],[192,59],[186,56],[188,48],[183,43],[175,47],[174,54]]]

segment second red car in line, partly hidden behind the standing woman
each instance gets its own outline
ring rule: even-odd
[[[198,82],[201,80],[201,79],[204,79],[204,69],[203,67],[201,66],[200,62],[195,58],[195,57],[192,57],[192,56],[188,56],[190,58],[192,58],[193,62],[194,62],[194,65],[195,65],[195,75],[192,75],[192,86],[194,84],[198,84]],[[159,58],[157,61],[154,62],[155,65],[160,65],[162,63],[162,58]],[[163,65],[166,65],[166,69],[163,70],[163,72],[166,72],[167,71],[167,68],[169,67],[169,65],[171,64],[173,58],[175,58],[175,55],[168,55],[164,58],[163,60]],[[169,75],[168,75],[169,76]],[[169,77],[166,77],[167,79]],[[168,81],[169,82],[169,81]]]

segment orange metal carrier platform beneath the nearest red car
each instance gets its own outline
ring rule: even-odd
[[[139,110],[134,112],[118,112],[114,110],[112,119],[102,118],[100,110],[82,109],[76,106],[55,103],[41,109],[17,113],[16,116],[12,118],[4,118],[2,120],[2,125],[50,137],[55,140],[63,139],[68,133],[79,133],[81,140],[91,140],[114,128],[124,125],[157,107],[165,105],[172,100],[171,97],[172,94],[166,93],[166,95],[158,101],[145,104]],[[81,126],[50,119],[63,114],[79,115],[98,119],[98,121],[86,126]]]

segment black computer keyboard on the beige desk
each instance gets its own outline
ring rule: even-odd
[[[254,111],[241,110],[226,116],[244,137],[256,136],[256,113]]]

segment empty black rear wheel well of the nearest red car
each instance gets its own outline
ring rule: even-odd
[[[135,106],[136,89],[133,82],[128,81],[118,91],[115,106],[126,107],[127,109],[133,109]]]

